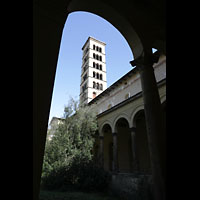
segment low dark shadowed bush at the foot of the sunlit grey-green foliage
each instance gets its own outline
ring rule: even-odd
[[[44,189],[84,192],[105,192],[111,176],[93,161],[75,158],[70,167],[53,170],[43,178]]]

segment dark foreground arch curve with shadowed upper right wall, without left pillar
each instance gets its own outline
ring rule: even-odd
[[[148,10],[142,2],[140,5],[135,1],[128,3],[129,8],[124,8],[121,1],[110,6],[102,0],[72,0],[67,12],[90,12],[110,22],[124,36],[135,59],[142,55],[144,48],[155,48],[165,54],[165,4],[162,1],[149,2],[152,5]],[[141,6],[140,12],[138,6]]]

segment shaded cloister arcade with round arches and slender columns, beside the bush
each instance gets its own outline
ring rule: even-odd
[[[164,91],[160,88],[161,93]],[[161,96],[163,115],[166,115],[165,95]],[[137,101],[139,104],[133,106]],[[99,138],[95,155],[105,170],[117,173],[152,174],[142,97],[127,103],[113,112],[98,116]],[[131,108],[131,109],[130,109]],[[129,112],[127,112],[129,110]],[[158,137],[161,164],[165,177],[166,135]]]

